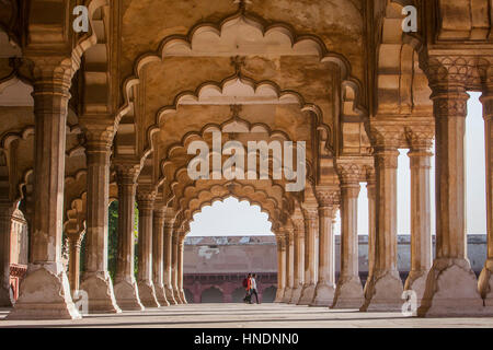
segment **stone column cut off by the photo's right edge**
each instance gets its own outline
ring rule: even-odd
[[[486,221],[488,258],[481,271],[478,287],[490,313],[493,307],[493,86],[481,96],[486,145]]]

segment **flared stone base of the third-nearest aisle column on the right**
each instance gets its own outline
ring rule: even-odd
[[[359,276],[340,277],[331,308],[359,308],[364,303]]]

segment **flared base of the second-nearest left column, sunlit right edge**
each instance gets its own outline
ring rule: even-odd
[[[122,313],[116,304],[112,279],[107,271],[85,272],[82,276],[79,292],[87,293],[90,314]]]

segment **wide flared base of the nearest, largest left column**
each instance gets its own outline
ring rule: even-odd
[[[7,319],[80,319],[61,262],[30,264]]]

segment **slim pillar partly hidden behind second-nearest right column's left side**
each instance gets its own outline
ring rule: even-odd
[[[369,281],[374,275],[375,260],[376,260],[376,224],[377,224],[377,211],[376,211],[376,200],[377,200],[377,180],[375,178],[375,170],[367,168],[367,183],[366,191],[368,197],[368,277],[366,279],[365,288],[363,293],[365,299],[368,292]]]

